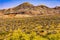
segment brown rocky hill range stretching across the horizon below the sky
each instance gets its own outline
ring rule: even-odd
[[[34,6],[28,2],[14,8],[0,10],[0,14],[28,14],[28,15],[60,15],[60,7],[49,8],[45,5]]]

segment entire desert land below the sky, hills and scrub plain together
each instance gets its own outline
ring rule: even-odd
[[[0,40],[60,40],[60,6],[24,2],[0,10]]]

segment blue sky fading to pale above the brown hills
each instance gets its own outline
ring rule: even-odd
[[[33,5],[44,4],[48,7],[60,6],[60,0],[0,0],[0,9],[12,8],[24,2],[29,2]]]

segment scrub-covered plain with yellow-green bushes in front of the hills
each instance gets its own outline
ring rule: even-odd
[[[60,17],[0,19],[1,40],[60,40]]]

